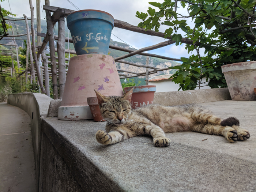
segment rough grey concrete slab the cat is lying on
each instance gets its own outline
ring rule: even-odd
[[[250,139],[229,143],[222,136],[180,132],[166,134],[171,144],[165,148],[154,147],[153,139],[146,136],[103,146],[95,139],[95,133],[105,127],[103,122],[49,117],[43,118],[42,128],[88,191],[255,192],[256,101],[200,105],[221,118],[237,117]]]

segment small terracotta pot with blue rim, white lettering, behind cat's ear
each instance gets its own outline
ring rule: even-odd
[[[127,93],[131,89],[132,87],[125,87],[124,93]],[[155,85],[134,86],[131,102],[132,108],[137,109],[142,106],[153,104],[156,90],[157,88]]]

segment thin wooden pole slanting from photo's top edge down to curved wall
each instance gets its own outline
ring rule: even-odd
[[[32,0],[29,0],[29,4],[30,4],[30,10],[31,10],[32,51],[34,54],[35,69],[37,70],[37,80],[39,82],[41,92],[44,94],[45,93],[44,84],[41,79],[40,67],[38,65],[38,60],[37,60],[37,54],[35,53],[34,7],[32,5]]]

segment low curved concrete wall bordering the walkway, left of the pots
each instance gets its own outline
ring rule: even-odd
[[[10,94],[7,101],[8,104],[23,109],[30,116],[37,187],[39,186],[38,178],[41,154],[41,117],[47,115],[51,100],[53,99],[41,93],[16,93]]]

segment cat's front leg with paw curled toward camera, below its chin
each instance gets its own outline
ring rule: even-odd
[[[123,140],[132,138],[133,136],[135,135],[123,129],[119,129],[117,131],[111,131],[111,132],[99,130],[96,133],[96,140],[97,142],[103,145],[110,145],[110,144],[122,142]]]

